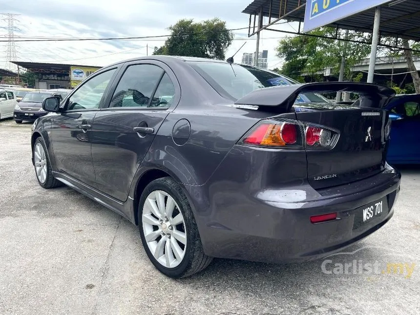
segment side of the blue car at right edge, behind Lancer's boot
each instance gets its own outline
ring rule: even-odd
[[[410,101],[391,109],[391,134],[387,159],[392,163],[420,162],[420,101]]]

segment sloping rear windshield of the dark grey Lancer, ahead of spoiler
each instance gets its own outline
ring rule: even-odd
[[[278,73],[244,64],[191,62],[191,66],[216,90],[238,100],[253,90],[275,85],[292,85],[298,82]],[[300,94],[296,102],[329,103],[321,95]]]

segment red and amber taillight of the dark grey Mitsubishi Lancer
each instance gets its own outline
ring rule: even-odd
[[[281,148],[331,149],[339,132],[328,127],[290,119],[264,120],[238,142],[243,145]]]

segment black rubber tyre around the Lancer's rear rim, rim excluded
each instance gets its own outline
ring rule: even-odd
[[[168,193],[175,200],[176,204],[179,206],[179,211],[184,217],[185,229],[187,232],[186,251],[181,263],[174,268],[167,268],[160,264],[150,252],[145,239],[142,220],[143,207],[147,196],[154,190],[163,190]],[[197,224],[188,199],[181,187],[171,177],[158,178],[150,182],[144,189],[139,202],[138,222],[140,236],[147,256],[157,270],[171,278],[183,278],[194,273],[198,273],[209,266],[211,260],[213,259],[213,257],[207,256],[204,253]]]

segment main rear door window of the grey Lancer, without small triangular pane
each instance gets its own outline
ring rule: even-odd
[[[109,107],[147,107],[152,102],[156,86],[164,70],[153,64],[134,64],[127,67],[111,98]]]

